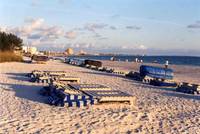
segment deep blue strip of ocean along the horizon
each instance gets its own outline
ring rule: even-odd
[[[94,60],[110,60],[112,56],[70,56],[83,59],[94,59]],[[172,65],[189,65],[189,66],[200,66],[200,57],[192,56],[130,56],[130,55],[118,55],[115,59],[118,61],[129,62],[135,61],[135,59],[142,60],[144,63],[158,63],[165,64],[169,61]]]

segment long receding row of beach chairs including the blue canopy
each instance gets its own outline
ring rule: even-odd
[[[95,61],[95,60],[67,58],[65,60],[65,63],[80,66],[80,67],[86,67],[88,69],[92,69],[96,71],[125,76],[127,78],[140,81],[144,84],[165,87],[165,88],[175,88],[175,91],[177,92],[183,92],[183,93],[189,93],[189,94],[200,94],[200,85],[189,84],[189,83],[184,83],[184,82],[178,83],[172,80],[173,70],[169,68],[141,65],[139,72],[134,72],[134,71],[127,72],[124,70],[117,70],[114,68],[103,67],[100,61]]]

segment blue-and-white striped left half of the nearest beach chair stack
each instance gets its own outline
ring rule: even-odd
[[[59,82],[50,84],[48,91],[51,91],[48,99],[48,103],[51,105],[82,107],[98,103],[97,99]]]

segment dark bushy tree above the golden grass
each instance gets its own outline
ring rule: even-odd
[[[0,31],[0,51],[21,49],[23,40],[12,33]]]

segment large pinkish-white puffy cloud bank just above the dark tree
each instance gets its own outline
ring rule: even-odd
[[[49,26],[43,18],[25,19],[25,24],[19,27],[3,27],[5,32],[16,34],[31,45],[51,44],[64,37],[65,31],[60,26]]]

